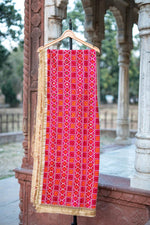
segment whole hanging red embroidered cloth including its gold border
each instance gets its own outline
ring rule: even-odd
[[[93,217],[100,129],[95,50],[42,50],[31,201],[37,212]]]

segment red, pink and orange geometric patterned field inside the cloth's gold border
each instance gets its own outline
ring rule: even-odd
[[[42,203],[95,208],[99,115],[94,50],[47,50]]]

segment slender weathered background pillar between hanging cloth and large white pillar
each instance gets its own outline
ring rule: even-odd
[[[129,138],[129,59],[128,45],[119,45],[119,87],[118,87],[118,115],[116,142],[118,144],[130,144]]]

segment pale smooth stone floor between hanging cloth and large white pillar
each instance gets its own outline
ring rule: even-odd
[[[100,173],[119,177],[133,176],[135,145],[106,146],[101,150]]]

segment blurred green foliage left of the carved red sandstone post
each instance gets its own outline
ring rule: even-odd
[[[17,94],[22,90],[23,80],[23,41],[22,18],[15,9],[12,0],[0,2],[0,88],[5,96],[5,102],[17,106]],[[11,43],[19,42],[19,46],[9,51],[4,46],[5,40]]]

